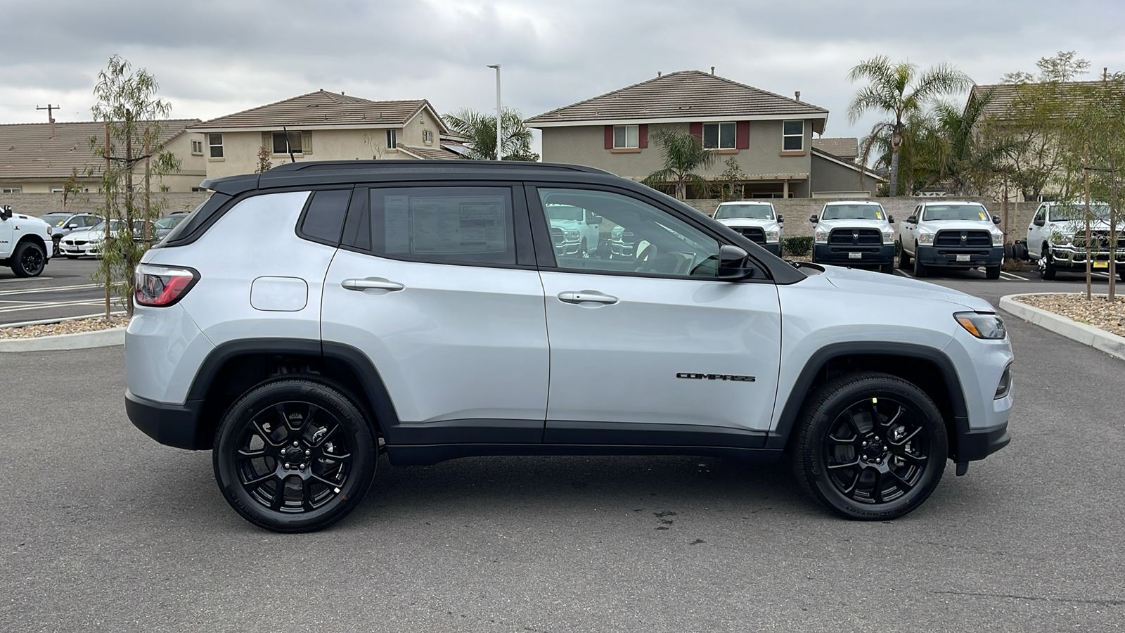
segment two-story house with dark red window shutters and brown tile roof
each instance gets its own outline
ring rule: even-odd
[[[542,132],[544,161],[636,180],[664,167],[649,136],[657,126],[669,126],[719,154],[701,170],[709,180],[719,180],[734,157],[746,197],[874,195],[879,176],[812,146],[812,135],[822,133],[827,121],[825,108],[691,70],[543,113],[526,125]]]

